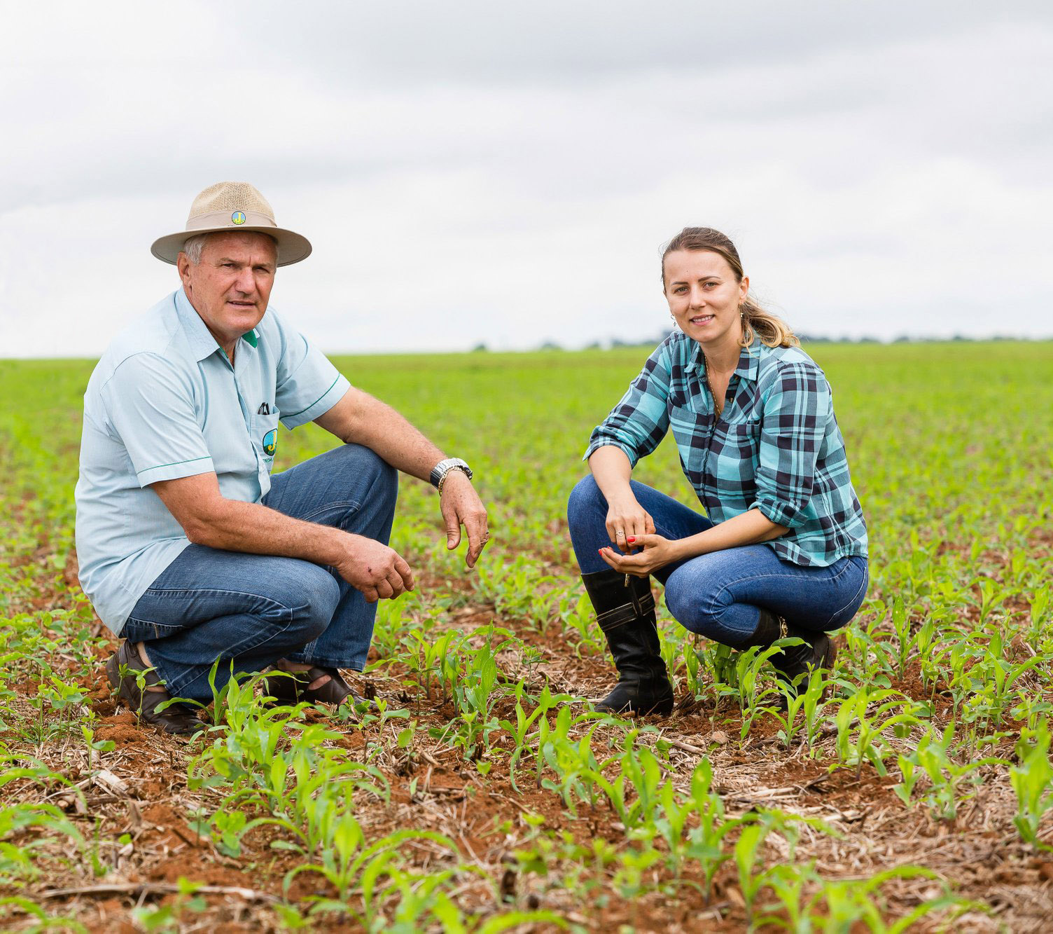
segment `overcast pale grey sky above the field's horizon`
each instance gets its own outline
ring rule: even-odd
[[[0,356],[97,355],[250,181],[337,352],[645,338],[686,225],[833,336],[1053,336],[1048,3],[0,0]]]

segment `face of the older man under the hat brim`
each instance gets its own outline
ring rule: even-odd
[[[238,337],[262,319],[277,259],[274,240],[251,232],[212,234],[197,264],[185,253],[179,254],[186,297],[227,356]]]

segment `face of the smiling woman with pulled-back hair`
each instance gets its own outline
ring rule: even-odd
[[[728,260],[709,250],[675,250],[662,273],[669,310],[684,334],[703,346],[738,343],[749,278],[738,281]]]

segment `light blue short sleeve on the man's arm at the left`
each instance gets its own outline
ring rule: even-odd
[[[140,487],[215,468],[185,374],[156,353],[125,359],[102,388],[106,430],[124,445]]]

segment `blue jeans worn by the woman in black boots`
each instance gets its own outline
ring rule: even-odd
[[[631,481],[655,530],[683,539],[713,527],[704,515],[676,500]],[[592,476],[571,493],[568,519],[581,573],[610,570],[599,549],[610,547],[607,500]],[[856,615],[867,594],[867,559],[841,558],[829,567],[801,567],[782,561],[768,545],[712,551],[654,572],[665,585],[665,605],[692,633],[727,645],[740,645],[757,628],[760,608],[811,631],[839,629]]]

